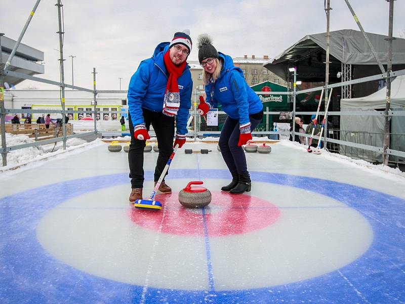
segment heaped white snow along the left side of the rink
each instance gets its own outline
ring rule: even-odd
[[[6,133],[7,147],[33,142],[34,140],[29,138],[27,135],[13,135],[10,133]],[[72,138],[66,141],[66,150],[63,150],[63,142],[13,150],[7,153],[7,166],[0,167],[0,173],[9,171],[11,169],[14,170],[17,167],[26,167],[27,165],[34,164],[38,160],[46,160],[50,157],[54,157],[63,153],[72,153],[71,151],[76,150],[77,148],[94,146],[95,144],[101,145],[103,144],[103,142],[101,140],[96,140],[92,143],[88,143],[83,139]],[[3,163],[3,157],[0,156],[0,159]]]

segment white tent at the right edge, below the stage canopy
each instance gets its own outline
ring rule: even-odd
[[[369,96],[340,100],[340,110],[343,111],[384,111],[386,90],[383,88]],[[391,82],[392,110],[405,110],[405,75],[396,77]],[[385,118],[382,116],[341,116],[341,140],[359,144],[383,147]],[[391,118],[390,149],[405,151],[405,116]],[[363,149],[340,146],[340,153],[351,157],[363,158],[369,161],[381,160],[382,155]],[[390,157],[398,160],[397,157]]]

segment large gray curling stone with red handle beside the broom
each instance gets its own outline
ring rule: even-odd
[[[179,202],[187,208],[203,208],[211,203],[211,192],[207,188],[191,185],[202,185],[203,182],[189,182],[183,190],[179,192]]]

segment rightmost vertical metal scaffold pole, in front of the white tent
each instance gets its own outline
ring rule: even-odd
[[[387,0],[389,2],[389,21],[388,21],[388,62],[387,62],[387,94],[385,98],[385,127],[384,127],[384,150],[383,150],[383,163],[388,165],[387,149],[389,148],[389,115],[388,111],[391,106],[391,77],[390,73],[392,70],[392,23],[394,16],[394,0]]]

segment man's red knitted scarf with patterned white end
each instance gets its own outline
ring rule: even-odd
[[[168,116],[174,116],[180,107],[180,91],[179,84],[177,83],[177,78],[183,73],[186,66],[186,61],[180,65],[175,65],[169,56],[170,50],[166,52],[163,56],[165,61],[166,69],[169,72],[168,84],[166,85],[166,94],[163,104],[163,114]]]

